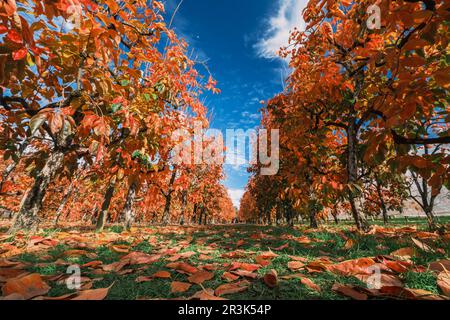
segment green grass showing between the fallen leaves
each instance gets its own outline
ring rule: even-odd
[[[404,221],[401,224],[399,221],[394,222],[396,226],[410,225]],[[350,232],[346,224],[342,224],[335,232],[328,232],[324,229],[318,229],[314,232],[307,232],[304,226],[297,226],[295,228],[285,227],[260,227],[252,225],[236,225],[236,226],[208,226],[206,228],[191,229],[186,233],[151,233],[147,238],[140,239],[140,241],[117,240],[109,243],[108,245],[102,245],[95,249],[95,251],[87,250],[88,252],[94,252],[96,254],[94,258],[88,258],[86,256],[80,257],[65,257],[64,252],[68,249],[66,245],[57,245],[56,247],[48,250],[47,252],[37,255],[35,253],[24,253],[17,257],[19,260],[29,264],[28,269],[31,272],[38,272],[42,275],[57,275],[66,272],[66,266],[55,266],[53,261],[57,259],[63,259],[64,261],[72,264],[82,265],[92,260],[101,260],[104,264],[110,264],[118,261],[123,255],[110,249],[111,244],[126,244],[134,246],[130,248],[130,251],[140,251],[148,254],[154,254],[157,250],[161,249],[161,246],[155,247],[154,244],[150,244],[148,239],[151,237],[157,237],[158,243],[162,244],[162,247],[171,248],[177,246],[180,242],[186,241],[189,236],[192,241],[189,245],[185,246],[179,253],[194,251],[197,254],[191,256],[188,259],[181,259],[180,261],[186,261],[191,265],[198,266],[204,264],[215,263],[219,265],[219,269],[213,271],[215,277],[204,282],[202,285],[204,288],[215,289],[219,285],[226,283],[221,278],[224,271],[223,266],[225,263],[233,261],[255,263],[254,257],[266,252],[269,248],[276,248],[286,243],[289,246],[281,251],[274,251],[279,256],[274,258],[272,262],[265,267],[257,270],[256,273],[259,278],[256,280],[249,280],[251,285],[245,292],[238,294],[226,295],[228,299],[333,299],[341,300],[347,299],[331,290],[334,283],[359,285],[364,286],[359,280],[352,276],[339,276],[330,272],[321,272],[310,274],[305,270],[291,271],[287,268],[287,264],[291,261],[289,255],[302,256],[309,261],[316,260],[319,257],[329,257],[334,261],[355,259],[360,257],[374,257],[379,255],[388,255],[390,252],[399,248],[412,246],[412,243],[408,237],[377,237],[375,235],[360,235]],[[110,228],[109,232],[121,233],[123,230],[119,228]],[[44,233],[51,236],[58,232],[58,230],[46,230]],[[252,239],[252,235],[263,234],[266,237],[262,239]],[[293,239],[287,239],[289,236],[299,237],[308,236],[313,240],[310,244],[301,244]],[[344,235],[347,238],[353,239],[355,245],[350,249],[345,249],[346,240],[342,237]],[[131,236],[131,239],[133,236]],[[237,247],[236,244],[239,240],[244,240],[244,243]],[[200,252],[207,247],[214,248],[209,260],[200,260]],[[449,245],[443,241],[435,241],[433,247],[440,248],[438,252],[423,252],[421,251],[419,256],[414,258],[414,262],[417,265],[426,266],[432,261],[439,259],[448,259]],[[247,256],[244,258],[224,258],[224,253],[230,253],[232,251],[242,250],[247,252]],[[167,257],[166,257],[167,258]],[[95,279],[93,282],[93,288],[105,288],[111,285],[112,288],[109,291],[107,299],[137,299],[137,298],[149,298],[149,299],[173,299],[180,297],[192,296],[197,291],[202,289],[201,286],[193,284],[191,288],[184,293],[171,293],[170,285],[172,281],[188,282],[187,275],[177,273],[166,267],[167,261],[165,258],[149,264],[147,266],[127,266],[125,269],[132,269],[130,274],[119,275],[114,272],[108,274],[95,274],[93,269],[82,268],[82,275],[91,279]],[[279,286],[271,289],[267,287],[261,278],[270,269],[275,269],[279,277],[289,275],[292,273],[302,273],[305,277],[311,279],[314,283],[321,287],[321,292],[316,292],[309,287],[303,285],[299,279],[280,280]],[[171,279],[154,279],[149,282],[137,283],[135,280],[139,276],[150,276],[153,273],[161,270],[169,271],[172,275]],[[424,289],[434,293],[439,293],[439,289],[436,286],[436,276],[431,272],[412,272],[409,271],[402,275],[402,280],[408,288],[412,289]],[[59,296],[66,293],[73,292],[66,288],[64,284],[59,285],[55,282],[51,282],[50,296]]]

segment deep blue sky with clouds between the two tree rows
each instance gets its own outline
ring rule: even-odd
[[[180,0],[166,1],[167,19]],[[184,0],[172,27],[185,38],[198,61],[218,81],[219,95],[208,95],[211,127],[250,129],[260,121],[260,101],[282,90],[286,63],[276,57],[289,30],[303,27],[305,0]],[[199,71],[206,73],[205,70]],[[225,165],[224,181],[238,205],[248,174],[245,166]]]

